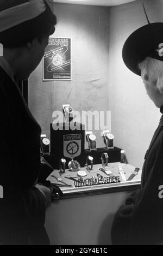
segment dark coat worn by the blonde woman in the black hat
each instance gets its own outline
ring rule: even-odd
[[[141,189],[126,201],[114,217],[111,237],[114,245],[163,244],[163,116],[146,153]]]

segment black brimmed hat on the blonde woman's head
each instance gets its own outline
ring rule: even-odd
[[[123,61],[131,72],[141,75],[139,63],[146,57],[163,61],[163,56],[156,51],[160,44],[163,46],[163,23],[143,26],[132,33],[124,43]]]

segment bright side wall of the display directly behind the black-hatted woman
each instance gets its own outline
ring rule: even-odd
[[[163,1],[143,1],[151,22],[163,21]],[[115,144],[126,150],[130,164],[142,167],[143,158],[160,119],[142,80],[126,68],[122,47],[127,37],[146,25],[142,1],[112,7],[109,36],[109,109]],[[162,32],[163,33],[163,32]]]

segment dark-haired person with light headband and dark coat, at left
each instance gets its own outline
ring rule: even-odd
[[[47,245],[49,188],[34,187],[40,171],[41,128],[17,86],[40,63],[56,17],[53,0],[0,0],[0,244]]]

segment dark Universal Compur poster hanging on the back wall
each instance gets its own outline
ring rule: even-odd
[[[71,81],[71,38],[49,37],[43,56],[43,81]]]

